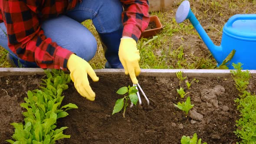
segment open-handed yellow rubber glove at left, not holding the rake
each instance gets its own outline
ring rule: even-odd
[[[94,101],[95,92],[90,87],[87,74],[94,82],[98,81],[98,76],[95,74],[91,65],[79,56],[72,54],[67,62],[67,67],[77,92],[90,101]]]

